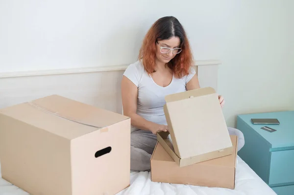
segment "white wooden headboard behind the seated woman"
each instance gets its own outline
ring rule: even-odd
[[[196,61],[200,87],[217,90],[218,60]],[[127,65],[0,73],[0,108],[58,94],[122,113],[121,80]]]

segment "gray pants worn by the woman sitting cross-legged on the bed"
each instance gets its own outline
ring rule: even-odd
[[[245,144],[240,130],[228,128],[230,135],[238,136],[239,151]],[[147,130],[136,130],[131,133],[131,171],[149,171],[150,158],[157,143],[156,135]]]

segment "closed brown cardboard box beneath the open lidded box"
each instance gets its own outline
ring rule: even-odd
[[[231,135],[231,140],[234,146],[233,154],[185,167],[179,167],[162,145],[157,142],[150,160],[151,180],[154,182],[234,189],[237,136]]]

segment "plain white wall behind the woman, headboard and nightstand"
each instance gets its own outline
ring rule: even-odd
[[[173,15],[196,60],[222,61],[234,126],[239,113],[294,109],[293,9],[292,0],[1,0],[0,73],[130,64],[150,25]]]

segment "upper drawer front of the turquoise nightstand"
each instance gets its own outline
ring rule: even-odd
[[[270,153],[269,185],[294,182],[294,150]]]

